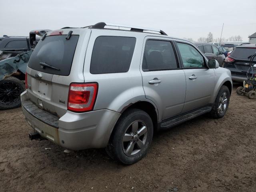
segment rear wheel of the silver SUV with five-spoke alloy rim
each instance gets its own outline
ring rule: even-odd
[[[123,164],[134,164],[147,154],[152,136],[150,116],[140,109],[128,110],[116,123],[106,152]]]

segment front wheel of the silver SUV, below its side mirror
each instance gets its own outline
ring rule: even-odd
[[[212,106],[211,115],[213,118],[222,118],[228,110],[230,92],[227,86],[222,86]]]

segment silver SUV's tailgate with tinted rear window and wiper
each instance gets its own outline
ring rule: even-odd
[[[58,117],[67,111],[70,83],[84,82],[82,72],[86,47],[83,52],[80,50],[84,47],[84,38],[89,39],[88,30],[72,31],[69,39],[66,37],[70,29],[62,29],[60,35],[55,35],[59,31],[48,32],[38,42],[27,68],[29,100]]]

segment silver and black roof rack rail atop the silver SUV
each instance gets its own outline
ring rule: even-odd
[[[99,22],[99,23],[96,23],[95,25],[90,25],[90,26],[86,26],[86,27],[82,27],[82,28],[103,29],[105,26],[131,28],[130,31],[136,31],[136,32],[154,31],[154,32],[159,32],[162,35],[167,35],[164,31],[159,30],[159,29],[142,28],[142,27],[138,27],[138,26],[129,26],[129,25],[113,24],[113,23],[105,23],[105,22]]]

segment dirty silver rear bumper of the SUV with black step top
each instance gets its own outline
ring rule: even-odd
[[[70,150],[106,147],[114,125],[121,115],[102,109],[85,113],[67,111],[58,118],[42,110],[38,112],[41,113],[40,117],[34,111],[40,108],[31,103],[34,110],[29,110],[25,105],[29,102],[26,91],[21,94],[21,100],[22,111],[28,124],[43,138]]]

